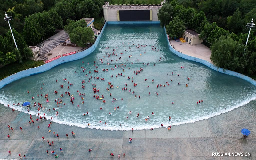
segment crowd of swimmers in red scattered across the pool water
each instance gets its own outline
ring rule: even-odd
[[[135,45],[135,44],[133,44],[133,45]],[[141,48],[141,47],[146,47],[147,45],[136,45],[135,47],[136,48]],[[152,47],[152,50],[153,51],[156,51],[156,46],[151,46]],[[106,47],[106,49],[109,49],[109,47]],[[130,47],[129,47],[129,49],[130,49]],[[117,53],[115,53],[115,51],[116,51],[116,49],[113,49],[113,52],[112,53],[106,53],[106,56],[108,57],[108,58],[110,58],[111,56],[117,56]],[[158,50],[157,50],[158,51]],[[120,53],[121,55],[123,55],[123,53]],[[144,52],[144,54],[146,54],[146,52]],[[141,54],[140,54],[141,55]],[[103,56],[103,58],[105,58],[105,56]],[[129,58],[132,58],[132,54],[131,55],[129,55]],[[121,57],[119,58],[119,60],[121,59]],[[160,59],[162,59],[161,57],[160,57]],[[128,60],[128,59],[127,59]],[[100,61],[101,61],[101,63],[103,63],[103,59],[100,59]],[[107,61],[109,61],[109,59],[107,60]],[[117,59],[116,59],[116,61],[117,61]],[[137,61],[139,61],[139,59],[137,59]],[[160,61],[160,60],[159,60]],[[113,62],[113,60],[110,60],[110,62]],[[84,61],[82,61],[82,63],[84,63]],[[87,63],[88,65],[89,65],[89,63]],[[110,64],[109,62],[107,63],[107,64]],[[133,63],[132,63],[133,64]],[[143,63],[143,65],[145,65],[145,63]],[[149,65],[149,63],[146,63],[146,65]],[[96,66],[96,61],[94,61],[94,64],[93,64],[93,66],[95,66],[95,68],[98,68],[98,66]],[[154,64],[154,66],[155,66],[155,64]],[[110,69],[111,70],[114,70],[114,68],[116,69],[116,68],[121,68],[121,70],[123,71],[123,72],[125,72],[125,69],[123,68],[123,67],[126,67],[126,65],[125,64],[120,64],[120,65],[115,65],[115,67],[111,67]],[[184,66],[181,66],[180,68],[184,68]],[[83,66],[81,66],[81,69],[82,69],[82,72],[85,72],[86,71],[86,68],[84,68]],[[130,67],[128,68],[128,69],[130,69]],[[105,68],[105,69],[102,69],[102,72],[108,72],[108,69],[107,68]],[[140,67],[140,69],[138,69],[138,70],[136,70],[136,71],[133,71],[133,74],[135,74],[135,75],[138,75],[138,74],[141,74],[143,72],[143,68],[141,68]],[[76,71],[75,71],[75,73],[76,73]],[[90,74],[91,73],[91,71],[88,71],[88,73]],[[98,73],[98,70],[94,70],[94,73]],[[172,72],[172,75],[174,75],[174,73]],[[85,76],[88,76],[87,74],[85,75]],[[118,73],[117,75],[116,75],[116,78],[118,77],[118,76],[122,76],[122,77],[124,77],[125,75],[123,74],[123,73]],[[177,73],[177,76],[180,76],[179,75],[179,73]],[[113,78],[113,75],[111,76],[112,78]],[[88,80],[88,82],[90,82],[90,80],[92,79],[93,77],[92,76],[90,76],[89,77],[89,80]],[[100,80],[102,80],[102,81],[104,81],[104,78],[100,78],[100,77],[94,77],[94,79],[100,79]],[[133,80],[133,76],[128,76],[127,77],[127,79],[128,80],[130,80],[130,79],[132,79],[131,80],[131,82],[133,83],[133,86],[134,87],[136,87],[138,84],[136,83],[136,82],[134,82]],[[189,78],[189,77],[187,77],[187,80],[191,80],[191,78]],[[67,81],[67,78],[63,78],[63,81]],[[148,81],[148,79],[147,78],[145,78],[144,79],[144,81]],[[171,79],[171,82],[172,82],[173,80]],[[56,79],[56,82],[58,82],[58,80]],[[152,80],[152,83],[154,83],[154,79]],[[70,87],[73,85],[72,83],[70,83],[69,81],[68,81],[68,89],[70,89]],[[45,85],[44,83],[43,83],[43,85]],[[111,82],[108,82],[108,85],[109,85],[109,88],[110,89],[113,89],[114,88],[114,85],[113,84],[111,84]],[[126,88],[126,86],[127,86],[127,83],[125,83],[124,84],[125,86],[122,88],[122,90],[123,91],[127,91],[128,89]],[[166,85],[167,86],[169,86],[170,84],[169,84],[169,82],[167,81],[166,82]],[[159,88],[159,87],[166,87],[166,85],[162,85],[162,84],[157,84],[156,85],[156,88]],[[178,85],[181,85],[180,84],[180,82],[178,82]],[[106,100],[103,100],[103,98],[104,98],[104,96],[103,95],[97,95],[99,92],[100,92],[100,90],[98,89],[98,88],[96,88],[96,84],[92,84],[92,86],[93,86],[93,88],[92,88],[92,90],[93,90],[93,92],[94,92],[94,98],[96,98],[97,100],[102,100],[102,102],[103,103],[106,103]],[[61,84],[60,85],[60,88],[63,88],[64,87],[64,85],[63,84]],[[149,87],[149,85],[147,86],[147,87]],[[186,87],[188,87],[188,84],[186,84]],[[82,80],[82,87],[81,87],[82,89],[85,89],[85,80]],[[108,87],[106,88],[106,90],[107,91],[110,91],[110,89],[109,89]],[[116,86],[116,88],[119,88],[119,86]],[[41,87],[41,90],[42,90],[42,87]],[[132,94],[135,94],[135,92],[134,91],[131,91],[131,89],[129,89],[128,90],[128,92],[132,92]],[[27,90],[27,93],[29,94],[30,92]],[[56,90],[54,90],[54,93],[55,94],[58,94],[58,91],[56,91]],[[81,97],[81,100],[82,100],[82,104],[84,104],[85,102],[84,102],[84,97],[82,97],[82,96],[85,96],[85,93],[81,93],[81,92],[79,92],[79,90],[77,90],[77,93],[78,93],[78,95]],[[96,94],[97,93],[97,94]],[[159,94],[157,93],[157,92],[155,92],[156,93],[156,95],[157,96],[159,96]],[[70,94],[70,92],[65,92],[65,95],[66,94],[68,94],[68,96],[70,96],[70,102],[72,103],[72,104],[74,104],[74,100],[75,100],[75,98],[74,98],[74,96],[73,95],[71,95]],[[109,94],[110,95],[110,97],[112,96],[112,94],[110,93]],[[151,95],[151,93],[149,92],[149,94],[148,95]],[[42,94],[41,94],[41,96],[42,96]],[[61,94],[60,95],[60,97],[63,97],[64,96],[64,94]],[[39,94],[37,94],[37,97],[39,97]],[[139,95],[139,96],[137,96],[137,95],[135,95],[135,98],[137,98],[137,97],[139,97],[139,99],[141,98],[141,95]],[[50,100],[48,99],[48,94],[46,94],[45,96],[44,96],[44,98],[46,99],[45,100],[45,102],[49,102]],[[34,100],[34,97],[32,96],[32,100]],[[113,98],[113,100],[112,100],[112,102],[114,103],[115,101],[117,100],[117,98]],[[123,100],[123,98],[121,98],[121,100]],[[55,102],[56,102],[56,105],[57,105],[57,108],[58,107],[60,107],[60,108],[62,108],[62,105],[60,105],[60,104],[62,104],[63,103],[63,100],[62,99],[55,99]],[[174,104],[174,102],[172,101],[171,102],[172,104]],[[199,100],[199,101],[197,101],[197,104],[200,104],[200,103],[203,103],[203,100]],[[18,103],[18,104],[16,104],[17,106],[19,106],[20,104]],[[40,104],[40,103],[38,103],[37,104],[39,107],[38,107],[38,114],[37,114],[37,116],[40,116],[40,119],[42,119],[42,117],[41,117],[41,115],[40,115],[40,113],[39,113],[39,111],[40,111],[40,109],[42,108],[42,104]],[[65,105],[65,103],[63,103],[63,105]],[[8,104],[8,106],[9,106],[9,104]],[[36,106],[36,102],[34,103],[34,106]],[[77,104],[77,107],[79,107],[80,105],[79,104]],[[45,109],[45,107],[43,107],[43,110]],[[116,110],[116,109],[119,109],[119,106],[117,106],[117,108],[116,107],[114,107],[114,110]],[[46,109],[47,111],[50,111],[50,109]],[[102,110],[102,107],[100,107],[100,110]],[[14,111],[14,109],[12,110],[12,111]],[[55,108],[53,108],[53,111],[55,111]],[[29,108],[28,108],[28,112],[29,112]],[[56,112],[56,116],[58,116],[59,115],[59,112],[58,111],[55,111]],[[85,116],[85,115],[88,115],[88,111],[86,112],[86,114],[84,113],[83,115]],[[131,111],[129,112],[129,114],[131,114]],[[110,112],[109,112],[109,115],[112,115]],[[152,112],[152,115],[154,115],[154,112]],[[44,119],[46,119],[46,117],[45,117],[45,113],[44,113]],[[137,114],[137,117],[139,117],[139,113]],[[126,119],[128,119],[128,116],[126,117]],[[52,120],[52,117],[51,117],[51,120]],[[146,118],[145,118],[145,121],[148,121],[148,120],[150,120],[150,117],[149,116],[147,116]],[[170,119],[169,119],[170,120]],[[31,120],[32,121],[32,120]],[[33,123],[34,123],[34,121],[32,121]],[[101,122],[101,121],[100,121]],[[106,122],[104,123],[104,124],[107,124]],[[91,125],[90,123],[88,123],[87,124],[88,126],[89,125]],[[121,124],[120,124],[121,125]],[[161,126],[163,126],[163,124],[161,124]],[[168,127],[168,129],[170,129],[171,128],[171,126],[169,126]],[[153,130],[153,128],[151,128],[151,130]]]

